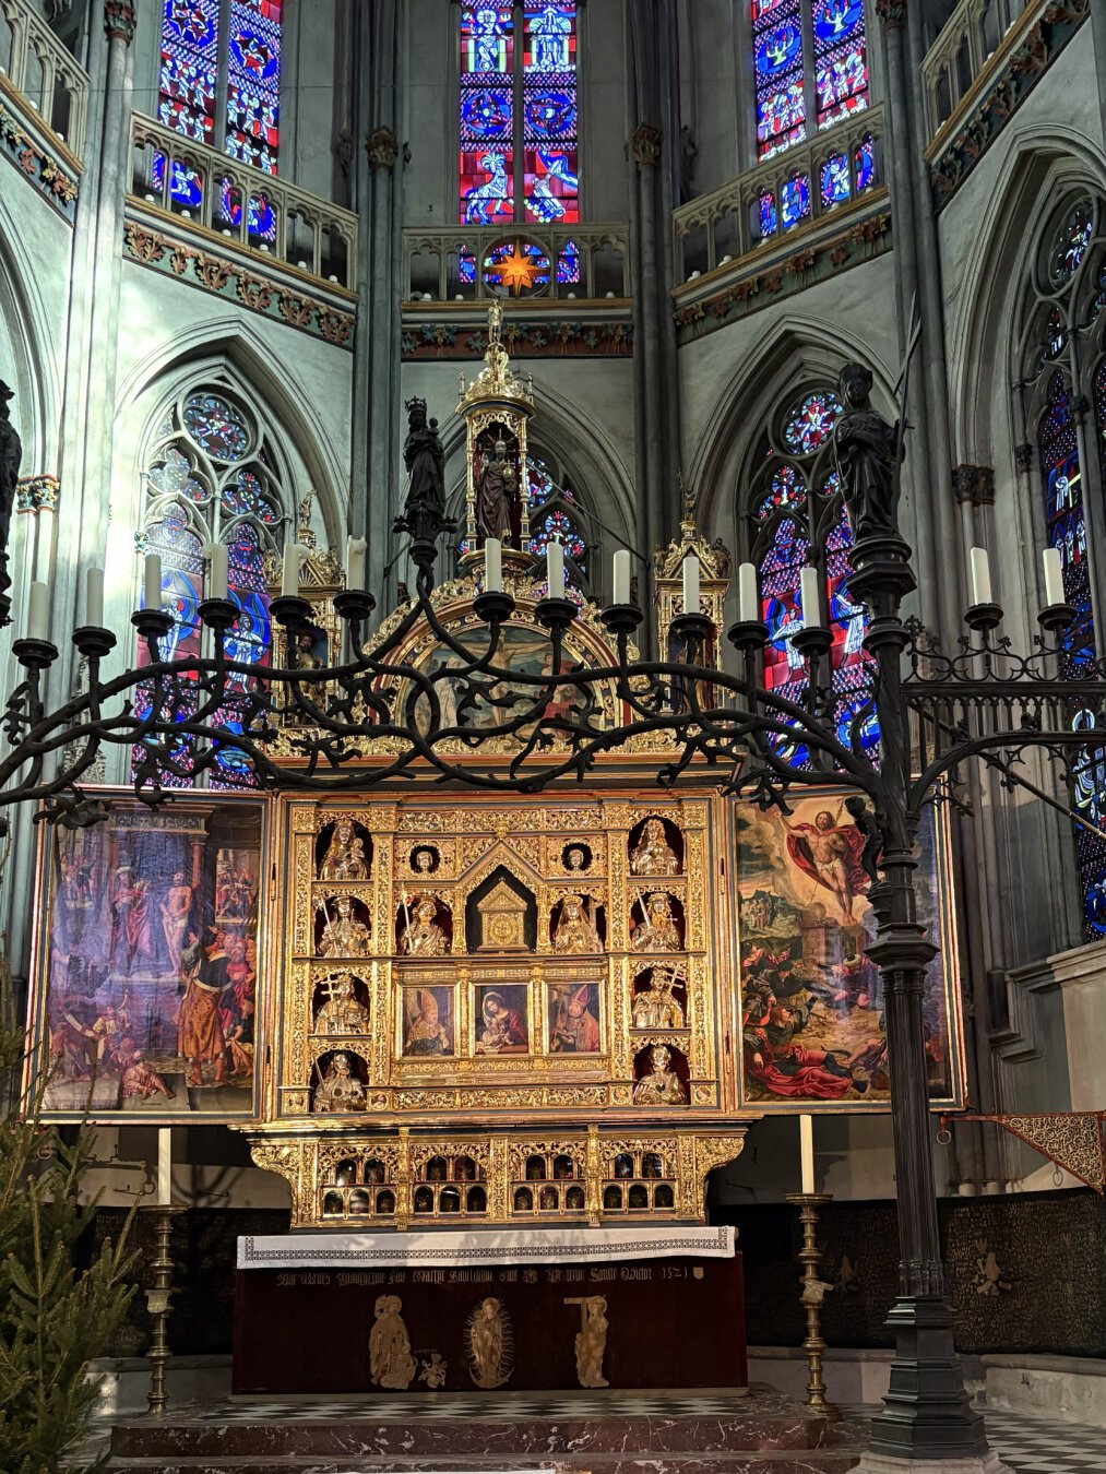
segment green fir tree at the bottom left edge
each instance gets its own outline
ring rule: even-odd
[[[55,1474],[87,1428],[97,1397],[88,1362],[108,1352],[127,1312],[133,1256],[128,1218],[118,1243],[75,1268],[94,1209],[78,1197],[94,1131],[81,1125],[65,1141],[43,1122],[46,1077],[21,1092],[24,1042],[0,952],[0,1470]]]

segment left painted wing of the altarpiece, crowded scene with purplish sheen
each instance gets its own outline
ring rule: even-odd
[[[262,805],[106,796],[44,840],[44,1108],[254,1114]]]

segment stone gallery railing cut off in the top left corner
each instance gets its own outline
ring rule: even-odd
[[[0,0],[0,72],[80,161],[88,74],[27,0]]]

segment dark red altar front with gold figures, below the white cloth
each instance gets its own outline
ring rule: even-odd
[[[246,1269],[234,1302],[236,1394],[380,1393],[370,1338],[382,1297],[400,1300],[414,1374],[407,1393],[481,1391],[472,1316],[500,1302],[510,1374],[498,1391],[580,1387],[581,1302],[606,1300],[611,1387],[748,1384],[742,1256],[475,1269]],[[504,1361],[506,1366],[506,1361]],[[394,1391],[391,1391],[394,1396]]]

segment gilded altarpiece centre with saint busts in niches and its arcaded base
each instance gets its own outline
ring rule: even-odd
[[[291,799],[279,831],[254,1156],[295,1222],[702,1218],[745,1132],[714,794]]]

